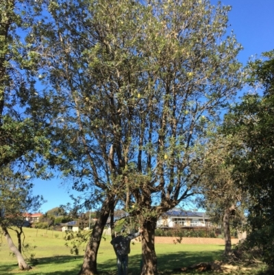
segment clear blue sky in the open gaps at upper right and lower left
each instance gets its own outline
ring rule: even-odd
[[[212,0],[217,3],[217,0]],[[232,5],[229,12],[228,32],[234,34],[244,49],[238,60],[246,64],[251,56],[260,56],[263,51],[274,49],[274,0],[223,0],[221,3]],[[34,195],[43,195],[47,203],[41,211],[70,202],[69,184],[61,184],[60,175],[49,181],[35,180]]]

